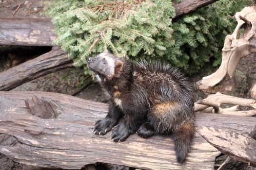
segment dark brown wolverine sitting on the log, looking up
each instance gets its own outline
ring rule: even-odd
[[[177,162],[183,163],[195,133],[193,92],[187,79],[169,64],[133,63],[106,50],[89,58],[87,66],[110,100],[106,117],[95,122],[93,132],[105,135],[112,130],[115,142],[134,133],[145,138],[172,136]],[[124,121],[118,124],[121,117]]]

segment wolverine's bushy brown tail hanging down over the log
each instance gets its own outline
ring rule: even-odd
[[[176,152],[177,162],[183,163],[190,149],[192,137],[195,134],[194,123],[185,122],[177,132],[174,133],[174,150]]]

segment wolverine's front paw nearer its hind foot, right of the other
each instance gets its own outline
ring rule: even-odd
[[[124,124],[118,124],[118,126],[112,130],[111,138],[114,142],[118,142],[124,141],[129,135],[129,129],[126,128]]]

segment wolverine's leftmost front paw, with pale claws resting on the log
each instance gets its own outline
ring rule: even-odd
[[[105,135],[108,131],[110,131],[115,123],[110,119],[104,118],[101,120],[96,121],[93,129],[94,134],[97,135]]]

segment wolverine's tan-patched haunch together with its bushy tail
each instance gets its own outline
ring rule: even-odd
[[[194,135],[194,111],[179,102],[161,102],[149,113],[149,120],[154,121],[157,134],[172,134],[177,162],[183,163],[190,149]]]

